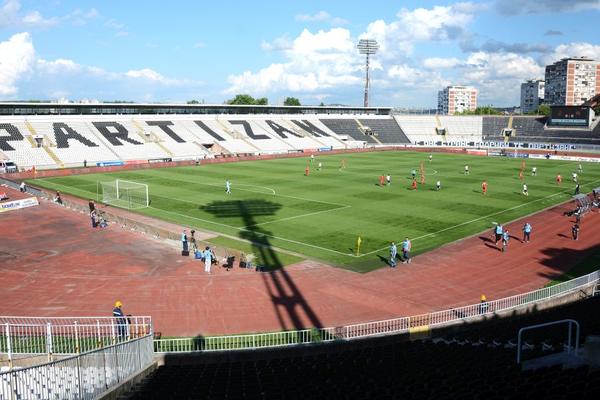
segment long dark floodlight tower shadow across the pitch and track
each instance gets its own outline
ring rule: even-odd
[[[256,221],[256,217],[275,215],[281,209],[281,204],[261,199],[227,200],[215,201],[200,208],[218,218],[242,219],[245,228],[240,230],[238,236],[252,245],[257,270],[262,272],[261,277],[282,330],[322,327],[317,314],[283,268],[271,244],[272,233]]]

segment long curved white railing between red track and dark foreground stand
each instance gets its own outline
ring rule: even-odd
[[[266,347],[294,346],[309,343],[351,340],[370,336],[398,334],[411,329],[429,329],[430,327],[452,324],[478,318],[482,315],[510,311],[541,301],[570,294],[600,280],[600,270],[554,286],[531,292],[505,297],[499,300],[451,308],[411,317],[393,318],[384,321],[364,322],[340,327],[314,328],[298,331],[275,333],[257,333],[248,335],[206,336],[195,338],[156,339],[154,351],[227,351],[246,350]]]

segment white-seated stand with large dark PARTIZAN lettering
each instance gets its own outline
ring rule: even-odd
[[[286,153],[361,147],[318,117],[277,115],[2,117],[0,156],[21,168],[57,168],[215,154]],[[356,125],[353,118],[346,121]]]

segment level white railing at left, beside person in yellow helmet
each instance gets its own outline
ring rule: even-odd
[[[150,317],[2,317],[0,353],[12,366],[16,354],[83,353],[152,334]]]

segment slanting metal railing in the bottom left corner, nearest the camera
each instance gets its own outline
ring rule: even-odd
[[[95,399],[154,362],[152,335],[0,373],[0,399]]]

